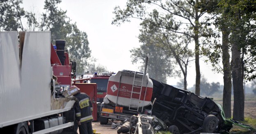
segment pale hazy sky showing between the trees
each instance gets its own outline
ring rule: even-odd
[[[78,28],[87,33],[91,55],[97,59],[98,64],[106,66],[113,72],[123,69],[138,70],[138,66],[131,62],[129,51],[140,45],[137,38],[140,20],[133,19],[121,26],[111,24],[114,7],[117,5],[124,7],[125,4],[126,0],[62,0],[59,4],[62,10],[67,11],[66,15],[72,22],[76,22]],[[44,0],[23,0],[22,6],[26,11],[41,14],[43,5]],[[223,84],[223,76],[211,71],[210,64],[207,65],[200,60],[200,67],[201,74],[208,79],[208,82],[219,81]],[[195,76],[193,61],[188,69],[188,87],[195,83]],[[183,75],[181,77],[183,79]],[[179,78],[170,78],[167,83],[176,85],[177,81]]]

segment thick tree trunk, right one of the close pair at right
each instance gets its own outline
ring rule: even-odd
[[[231,43],[231,70],[234,90],[233,119],[237,121],[244,121],[245,94],[242,77],[241,48],[239,48],[239,42],[237,40],[238,33],[234,32],[233,35],[234,37]]]

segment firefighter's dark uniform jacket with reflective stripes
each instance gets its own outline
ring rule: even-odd
[[[89,96],[83,92],[78,92],[74,97],[78,99],[74,105],[75,119],[80,121],[81,124],[92,121],[92,105]]]

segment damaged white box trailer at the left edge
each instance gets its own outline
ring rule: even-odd
[[[25,33],[21,62],[18,32],[0,32],[0,132],[57,134],[73,127],[63,114],[75,101],[53,98],[52,78],[50,31]]]

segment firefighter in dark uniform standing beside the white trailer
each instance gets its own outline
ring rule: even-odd
[[[91,121],[93,120],[91,111],[92,105],[89,96],[80,92],[78,88],[78,93],[73,95],[78,99],[75,102],[75,119],[77,120],[79,133],[80,134],[93,134]]]

